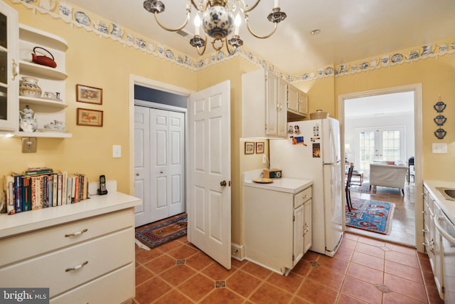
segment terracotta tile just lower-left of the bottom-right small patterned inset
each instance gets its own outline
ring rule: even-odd
[[[346,277],[341,288],[341,293],[350,295],[351,297],[363,300],[371,304],[382,303],[382,292],[370,283],[360,281],[356,278]]]

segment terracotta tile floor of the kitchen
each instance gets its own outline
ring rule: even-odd
[[[427,256],[347,233],[333,258],[309,251],[281,276],[232,259],[227,271],[186,236],[136,246],[133,303],[442,303]]]

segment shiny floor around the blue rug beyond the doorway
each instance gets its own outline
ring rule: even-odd
[[[368,184],[368,180],[364,180]],[[350,196],[360,199],[370,199],[376,201],[389,201],[395,203],[395,211],[392,218],[392,231],[390,234],[377,234],[346,227],[346,231],[353,234],[369,236],[370,238],[400,243],[407,246],[415,246],[415,186],[414,183],[405,184],[405,195],[400,189],[389,187],[377,187],[376,193],[363,193],[351,190]]]

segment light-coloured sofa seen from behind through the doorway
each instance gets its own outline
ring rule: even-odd
[[[370,164],[370,190],[372,186],[392,187],[405,194],[407,170],[407,166],[397,164]]]

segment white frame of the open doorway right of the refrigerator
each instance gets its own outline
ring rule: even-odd
[[[419,170],[415,172],[415,247],[417,251],[424,252],[424,236],[419,233],[423,227],[423,161],[422,161],[422,83],[414,83],[410,85],[400,85],[397,87],[382,88],[376,90],[368,90],[363,92],[348,93],[338,95],[338,120],[340,121],[340,139],[341,139],[341,155],[344,155],[344,103],[347,99],[368,97],[373,95],[383,95],[390,93],[414,92],[414,164]],[[344,200],[343,200],[344,202]],[[344,218],[344,214],[343,214]],[[346,225],[343,224],[344,229]]]

